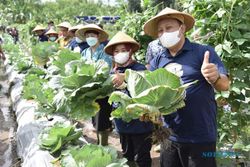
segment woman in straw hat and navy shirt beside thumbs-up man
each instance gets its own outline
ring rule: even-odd
[[[122,87],[124,72],[126,69],[136,71],[146,70],[146,67],[132,59],[133,53],[140,45],[130,36],[118,32],[105,47],[105,52],[113,56],[115,67],[114,86],[124,93],[128,93],[126,87]],[[113,104],[113,107],[115,104]],[[151,167],[150,150],[152,147],[151,134],[153,125],[150,122],[142,122],[134,119],[129,123],[121,119],[115,119],[115,127],[120,136],[122,153],[128,159],[130,166]]]

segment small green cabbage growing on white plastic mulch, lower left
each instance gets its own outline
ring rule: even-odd
[[[40,147],[49,150],[54,154],[61,151],[66,144],[77,141],[82,135],[82,130],[75,129],[75,126],[56,124],[45,129],[40,135]]]

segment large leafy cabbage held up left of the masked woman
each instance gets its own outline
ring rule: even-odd
[[[60,77],[60,91],[54,97],[56,111],[75,119],[87,119],[100,109],[96,99],[113,91],[106,62],[70,61],[63,67],[65,76]]]

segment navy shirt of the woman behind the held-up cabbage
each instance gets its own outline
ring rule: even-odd
[[[119,73],[125,73],[126,69],[132,69],[134,71],[146,70],[146,67],[140,63],[134,62],[127,67],[118,67],[116,70]],[[114,73],[114,72],[113,72]],[[122,90],[122,92],[129,95],[127,89]],[[114,107],[114,105],[113,105]],[[115,106],[116,108],[117,106]],[[133,119],[130,122],[125,122],[122,119],[115,119],[115,128],[118,133],[122,134],[143,134],[153,131],[153,124],[151,122],[143,122],[139,119]]]

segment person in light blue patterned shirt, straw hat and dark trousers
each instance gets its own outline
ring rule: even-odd
[[[111,69],[111,56],[104,52],[104,45],[101,42],[108,39],[108,34],[102,28],[95,24],[87,24],[76,31],[76,37],[82,41],[86,41],[89,45],[81,53],[85,61],[93,62],[104,60]],[[92,119],[93,126],[97,133],[97,143],[103,146],[108,145],[108,136],[112,130],[112,122],[110,121],[111,105],[108,103],[108,98],[97,99],[96,102],[100,106],[99,112]]]

